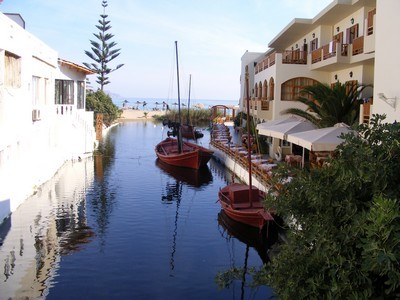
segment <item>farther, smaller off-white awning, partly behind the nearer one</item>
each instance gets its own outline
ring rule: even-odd
[[[307,120],[283,122],[276,125],[265,126],[258,130],[259,134],[271,136],[281,140],[287,140],[287,136],[292,133],[316,129],[317,127]]]

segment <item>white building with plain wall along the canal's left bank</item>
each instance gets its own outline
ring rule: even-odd
[[[96,142],[85,111],[92,71],[60,59],[24,25],[0,13],[0,223]]]

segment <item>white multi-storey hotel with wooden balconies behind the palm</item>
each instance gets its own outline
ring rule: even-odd
[[[301,3],[299,3],[301,5]],[[360,122],[386,114],[400,121],[399,0],[335,0],[312,19],[294,19],[265,53],[242,56],[240,107],[246,107],[249,72],[251,114],[261,122],[285,118],[287,108],[304,109],[299,91],[314,82],[372,84],[362,94]],[[291,145],[271,139],[270,154]]]

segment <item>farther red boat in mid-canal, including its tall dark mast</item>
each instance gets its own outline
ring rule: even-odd
[[[155,147],[157,157],[166,164],[200,169],[205,166],[211,159],[213,151],[204,148],[200,145],[182,141],[181,132],[181,110],[180,110],[180,95],[179,95],[179,66],[178,66],[178,44],[175,42],[176,48],[176,66],[177,66],[177,77],[178,77],[178,116],[179,122],[164,122],[164,125],[168,125],[172,131],[168,132],[168,138],[160,142]],[[175,138],[171,138],[174,136]]]

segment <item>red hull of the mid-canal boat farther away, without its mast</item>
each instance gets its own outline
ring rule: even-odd
[[[155,151],[157,157],[166,164],[192,169],[207,165],[214,153],[210,149],[185,141],[179,151],[178,140],[170,137],[159,143]]]

